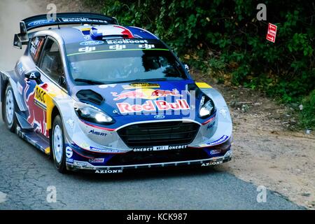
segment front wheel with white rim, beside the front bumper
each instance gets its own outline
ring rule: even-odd
[[[66,148],[64,147],[64,127],[62,119],[57,115],[54,119],[51,132],[52,157],[57,170],[66,173]]]

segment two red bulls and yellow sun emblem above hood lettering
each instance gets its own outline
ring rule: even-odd
[[[158,97],[183,97],[182,94],[179,94],[179,91],[174,90],[153,90],[149,88],[132,90],[127,92],[122,92],[118,94],[117,92],[111,92],[114,98],[113,100],[120,100],[120,99],[157,99]]]

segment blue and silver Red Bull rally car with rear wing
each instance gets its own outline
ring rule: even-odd
[[[105,15],[57,13],[22,20],[13,45],[27,47],[13,71],[0,73],[3,120],[59,172],[231,159],[222,95],[196,83],[151,32]]]

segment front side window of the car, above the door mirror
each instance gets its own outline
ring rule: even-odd
[[[64,68],[59,46],[51,38],[48,38],[44,45],[39,68],[64,87]]]

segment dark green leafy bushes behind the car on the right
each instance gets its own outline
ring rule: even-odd
[[[88,3],[97,5],[94,0]],[[103,0],[103,13],[122,25],[157,34],[184,62],[233,85],[264,90],[281,102],[302,103],[303,128],[315,127],[315,6],[312,1]],[[276,43],[265,39],[278,26]],[[303,99],[304,98],[304,99]]]

